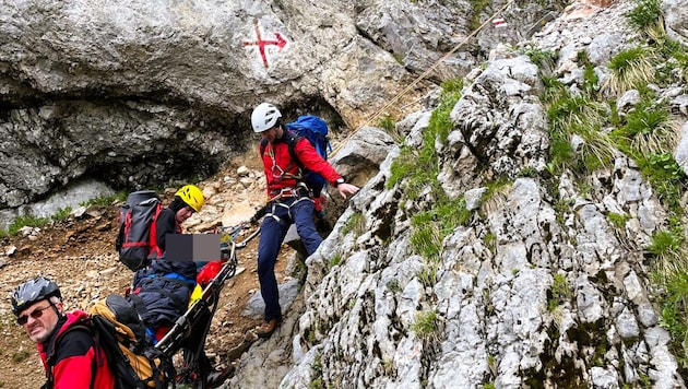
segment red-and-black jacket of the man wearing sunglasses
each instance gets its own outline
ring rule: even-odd
[[[81,330],[66,333],[67,329],[87,316],[88,314],[83,310],[67,314],[66,318],[58,321],[61,327],[46,342],[37,344],[48,380],[52,370],[52,386],[46,386],[47,388],[110,389],[115,387],[115,376],[110,372],[103,350],[94,347],[93,335]],[[93,377],[94,372],[95,377]]]

